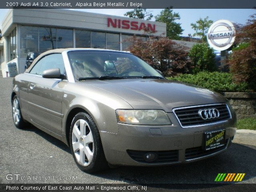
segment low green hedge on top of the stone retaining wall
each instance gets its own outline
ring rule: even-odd
[[[198,72],[169,77],[169,80],[186,82],[216,92],[248,92],[248,84],[232,82],[232,74],[224,72]]]

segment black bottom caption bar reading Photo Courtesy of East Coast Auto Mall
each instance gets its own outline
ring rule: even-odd
[[[0,184],[1,192],[252,192],[256,184]]]

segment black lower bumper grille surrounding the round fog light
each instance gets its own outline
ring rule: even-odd
[[[158,155],[158,158],[152,162],[148,162],[144,159],[144,155],[148,152],[154,152]],[[178,150],[170,151],[137,151],[137,150],[127,150],[129,156],[138,162],[142,163],[166,163],[166,162],[177,162],[178,161]]]

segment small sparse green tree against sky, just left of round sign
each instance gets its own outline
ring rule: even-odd
[[[203,42],[206,42],[206,33],[208,32],[209,27],[213,23],[212,20],[208,20],[209,17],[196,21],[196,23],[191,23],[192,29],[196,31],[196,33],[193,34],[193,36],[200,36],[202,38]]]

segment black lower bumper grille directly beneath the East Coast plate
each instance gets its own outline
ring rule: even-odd
[[[185,150],[185,159],[186,160],[191,160],[194,158],[200,158],[202,156],[206,156],[206,155],[210,155],[212,153],[218,152],[220,150],[223,150],[226,148],[226,146],[228,145],[228,139],[225,140],[225,145],[215,148],[215,149],[211,149],[211,150],[207,150],[204,151],[203,147],[193,147],[193,148],[188,148]]]

